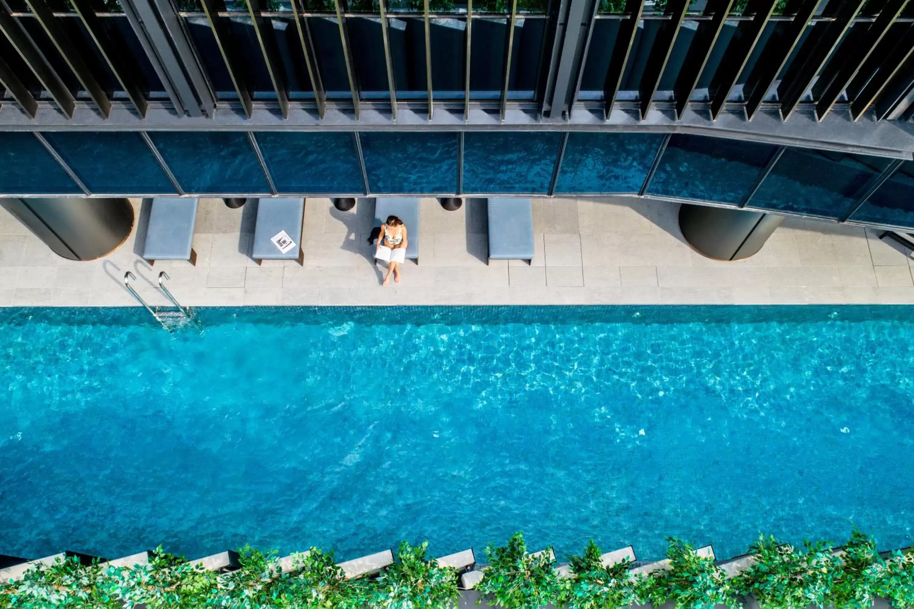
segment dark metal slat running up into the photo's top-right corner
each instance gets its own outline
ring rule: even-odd
[[[858,44],[845,43],[841,46],[845,52],[845,60],[841,65],[831,69],[832,62],[829,62],[825,68],[829,73],[823,72],[813,86],[813,98],[817,99],[815,115],[820,121],[829,110],[832,110],[834,102],[841,97],[841,93],[854,80],[866,60],[873,56],[889,28],[907,5],[908,0],[887,0],[886,5],[879,11],[876,21],[867,27],[866,35],[861,37]]]

